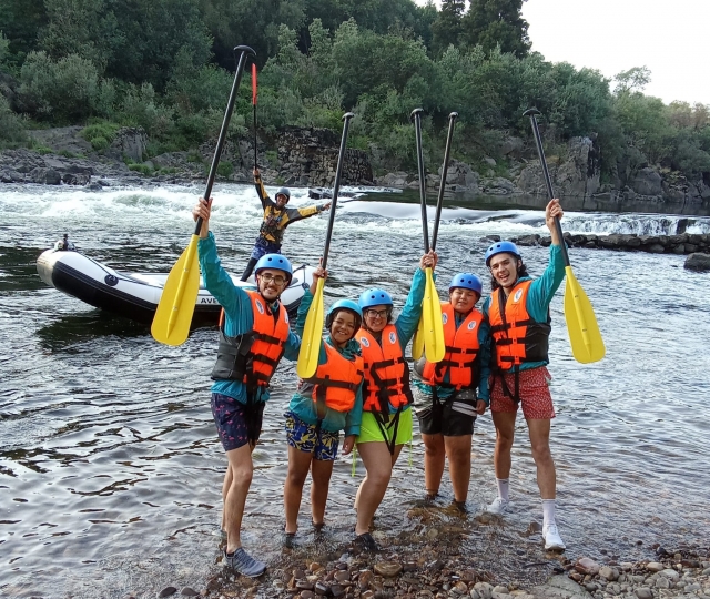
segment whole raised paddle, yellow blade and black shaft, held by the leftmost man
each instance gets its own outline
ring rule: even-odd
[[[236,64],[236,74],[234,75],[234,83],[224,112],[224,120],[222,121],[222,129],[220,130],[217,145],[214,150],[210,175],[207,176],[207,185],[203,195],[205,200],[209,200],[212,194],[212,185],[214,184],[217,165],[220,164],[220,156],[222,155],[222,149],[224,148],[224,142],[226,140],[226,132],[230,125],[230,119],[232,118],[236,92],[240,88],[240,82],[242,81],[244,64],[246,63],[247,57],[256,55],[254,50],[248,45],[237,45],[234,49],[234,53],[236,54],[237,52],[239,60]],[[166,345],[182,345],[185,343],[185,339],[190,334],[190,324],[192,323],[195,301],[200,291],[197,241],[200,240],[201,229],[202,219],[197,219],[195,232],[192,234],[190,245],[187,245],[170,271],[160,302],[158,303],[158,308],[155,309],[155,316],[153,316],[151,334],[155,341]]]

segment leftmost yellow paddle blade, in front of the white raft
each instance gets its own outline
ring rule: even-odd
[[[170,271],[153,316],[151,334],[165,345],[182,345],[190,334],[200,292],[199,238],[197,235],[192,236],[190,245]]]

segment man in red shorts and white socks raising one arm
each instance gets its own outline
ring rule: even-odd
[[[503,241],[488,247],[485,257],[493,291],[483,307],[490,325],[495,351],[490,413],[496,427],[494,467],[498,497],[488,506],[488,511],[504,514],[510,509],[510,449],[518,406],[521,406],[542,498],[542,537],[545,548],[549,550],[565,549],[555,521],[557,483],[549,445],[555,408],[549,390],[551,377],[546,367],[549,363],[549,306],[565,278],[565,260],[560,248],[564,242],[555,226],[555,219],[561,217],[559,200],[551,200],[545,209],[545,222],[552,241],[550,258],[539,278],[534,280],[528,275],[514,243]]]

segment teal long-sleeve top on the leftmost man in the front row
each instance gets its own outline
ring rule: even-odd
[[[197,256],[204,286],[224,308],[224,334],[235,337],[252,331],[254,328],[252,301],[244,290],[234,284],[232,277],[222,267],[212,232],[206,237],[201,237],[197,242]],[[278,309],[278,302],[275,302],[270,307],[272,311]],[[284,356],[295,361],[298,358],[300,348],[300,336],[290,331]],[[241,380],[215,380],[212,385],[212,392],[246,404],[246,386]],[[257,402],[267,402],[268,388],[260,386],[255,399]]]

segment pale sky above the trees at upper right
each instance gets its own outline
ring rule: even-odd
[[[666,103],[710,104],[710,0],[527,0],[523,16],[532,50],[547,60],[609,78],[646,65],[645,93]]]

